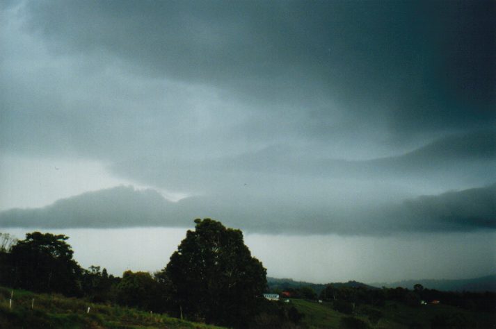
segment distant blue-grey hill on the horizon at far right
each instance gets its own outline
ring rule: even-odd
[[[413,285],[417,283],[428,289],[445,292],[496,292],[496,274],[461,280],[403,280],[392,283],[371,283],[371,285],[375,287],[413,289]]]

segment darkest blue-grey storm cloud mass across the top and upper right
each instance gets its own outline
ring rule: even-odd
[[[115,56],[261,110],[298,104],[321,129],[335,112],[386,120],[395,137],[495,123],[490,1],[32,1],[22,12],[54,53]]]

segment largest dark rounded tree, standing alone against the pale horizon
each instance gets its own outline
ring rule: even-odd
[[[241,230],[195,219],[163,271],[172,284],[175,310],[190,319],[245,326],[266,289],[266,269],[243,242]]]

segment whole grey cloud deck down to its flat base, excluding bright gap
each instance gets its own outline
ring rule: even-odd
[[[393,203],[496,181],[494,17],[491,1],[3,3],[0,151],[191,196],[115,189],[8,214],[406,230],[417,219],[386,220],[410,216]],[[447,217],[432,213],[422,227]]]

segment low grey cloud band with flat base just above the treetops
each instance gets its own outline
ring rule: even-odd
[[[115,187],[59,200],[39,209],[0,213],[1,227],[189,227],[211,215],[251,233],[387,235],[391,233],[494,230],[496,184],[369,208],[313,209],[255,198],[193,197],[171,203],[154,190]]]

